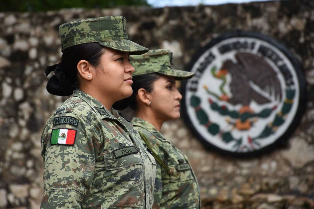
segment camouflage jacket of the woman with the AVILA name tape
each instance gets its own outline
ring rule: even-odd
[[[170,172],[157,161],[154,186],[153,208],[200,208],[200,192],[195,174],[187,156],[166,140],[156,128],[141,118],[133,118],[131,123],[140,134],[149,139],[149,146],[157,154]],[[177,169],[178,166],[191,169]]]

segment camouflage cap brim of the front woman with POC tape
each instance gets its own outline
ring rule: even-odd
[[[149,49],[127,39],[119,41],[104,41],[98,43],[111,49],[127,51],[130,53],[130,55],[142,55],[149,51]]]

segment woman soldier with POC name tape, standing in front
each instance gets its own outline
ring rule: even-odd
[[[46,68],[54,95],[69,96],[41,136],[41,208],[151,208],[155,161],[138,132],[111,108],[132,94],[129,54],[148,49],[127,40],[126,19],[62,24],[61,63]]]

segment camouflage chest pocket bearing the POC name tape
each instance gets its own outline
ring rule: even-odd
[[[106,171],[101,208],[138,208],[144,200],[144,163],[135,147],[103,152]]]

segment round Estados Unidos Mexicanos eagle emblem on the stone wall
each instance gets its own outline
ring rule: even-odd
[[[305,107],[300,63],[274,39],[222,35],[201,49],[182,86],[183,116],[208,147],[251,155],[287,139]]]

